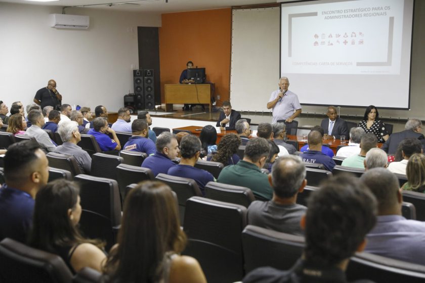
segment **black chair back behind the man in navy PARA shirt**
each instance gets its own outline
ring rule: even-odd
[[[144,180],[153,180],[154,176],[150,169],[128,164],[116,166],[116,177],[121,195],[121,204],[124,205],[125,188],[129,184],[139,183]]]

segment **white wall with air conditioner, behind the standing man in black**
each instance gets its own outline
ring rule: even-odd
[[[88,30],[56,29],[49,14],[61,7],[0,3],[0,100],[31,103],[55,79],[62,103],[117,111],[133,92],[139,66],[137,26],[160,26],[159,14],[66,9],[90,16]]]

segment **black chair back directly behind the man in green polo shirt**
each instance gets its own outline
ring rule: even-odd
[[[246,208],[256,200],[250,188],[218,182],[208,182],[205,193],[208,199],[239,204]]]

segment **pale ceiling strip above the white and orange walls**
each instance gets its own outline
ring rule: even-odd
[[[211,10],[256,4],[276,3],[276,0],[59,0],[54,2],[32,2],[25,0],[0,0],[0,2],[43,5],[43,6],[81,6],[91,9],[107,9],[111,11],[134,11],[152,13],[174,13],[183,11]],[[127,4],[124,4],[127,3]],[[131,4],[130,4],[131,3]]]

